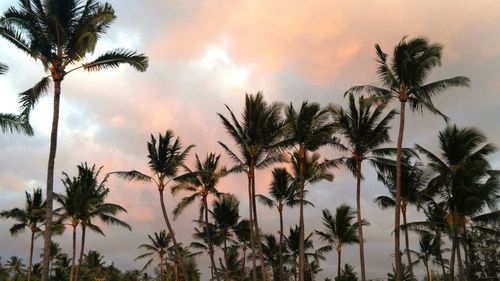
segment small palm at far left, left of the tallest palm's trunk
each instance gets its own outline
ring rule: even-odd
[[[28,281],[31,280],[31,268],[33,264],[33,246],[35,244],[35,235],[42,231],[40,225],[43,223],[45,214],[45,200],[43,200],[42,189],[34,188],[33,193],[25,192],[26,203],[24,209],[14,208],[8,211],[0,212],[1,218],[14,219],[17,221],[10,228],[11,235],[18,235],[26,228],[31,231],[29,263],[28,263]]]

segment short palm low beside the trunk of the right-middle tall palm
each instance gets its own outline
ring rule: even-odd
[[[323,231],[316,230],[316,234],[321,240],[335,247],[338,257],[337,276],[339,276],[342,264],[342,248],[344,245],[359,243],[359,236],[356,233],[358,226],[353,223],[355,212],[349,205],[342,204],[335,210],[335,216],[328,209],[324,209],[322,213]]]

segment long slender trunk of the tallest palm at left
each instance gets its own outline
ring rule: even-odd
[[[57,150],[60,98],[61,80],[54,80],[54,108],[52,115],[52,132],[50,133],[49,161],[47,166],[45,231],[43,233],[42,281],[47,281],[49,279],[50,245],[52,237],[52,201],[54,200],[54,165]]]

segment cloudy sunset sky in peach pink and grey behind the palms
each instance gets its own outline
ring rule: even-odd
[[[17,1],[0,1],[5,11]],[[150,134],[173,130],[185,145],[195,144],[202,158],[222,153],[217,141],[233,143],[216,113],[227,115],[225,105],[237,114],[245,93],[262,91],[269,102],[303,100],[321,105],[346,105],[344,92],[353,85],[377,82],[374,44],[391,53],[403,36],[425,36],[444,45],[442,66],[429,81],[465,75],[470,88],[447,90],[435,104],[458,126],[473,126],[498,145],[500,112],[500,2],[498,1],[163,1],[110,0],[117,20],[98,43],[94,57],[105,50],[127,48],[144,52],[150,61],[145,73],[129,67],[99,73],[73,72],[62,83],[61,118],[55,178],[76,173],[82,162],[103,166],[103,172],[137,169],[147,172],[146,142]],[[93,57],[90,56],[89,60]],[[16,112],[17,93],[31,87],[43,73],[39,62],[0,40],[0,61],[10,70],[0,76],[0,112]],[[24,191],[45,185],[51,124],[51,95],[43,98],[32,116],[34,137],[0,135],[0,209],[24,204]],[[419,113],[407,115],[405,145],[418,143],[437,152],[442,119]],[[395,139],[397,123],[391,123]],[[393,142],[390,144],[395,146]],[[332,149],[323,157],[338,156]],[[500,167],[500,154],[490,158]],[[380,210],[373,199],[386,194],[385,187],[366,165],[362,185],[362,214],[371,222],[364,229],[367,278],[385,277],[391,270],[393,211]],[[332,183],[309,186],[315,208],[305,210],[306,231],[320,227],[324,208],[341,203],[355,205],[355,181],[345,170],[335,170]],[[266,193],[270,170],[257,173],[257,190]],[[109,201],[121,204],[128,214],[120,218],[132,231],[104,227],[106,236],[89,234],[87,249],[99,250],[108,263],[121,269],[138,269],[137,246],[147,234],[164,228],[158,196],[153,186],[127,183],[111,177]],[[62,190],[60,181],[55,191]],[[240,214],[246,217],[246,178],[231,175],[219,185],[223,192],[242,199]],[[168,209],[181,195],[166,198]],[[173,222],[178,239],[192,241],[197,206]],[[277,233],[274,210],[259,207],[265,233]],[[298,221],[298,209],[285,211],[285,229]],[[411,211],[409,220],[421,215]],[[0,256],[19,255],[28,260],[28,233],[11,237],[13,221],[0,221]],[[413,238],[415,238],[413,236]],[[54,238],[70,252],[70,233]],[[415,239],[413,239],[415,241]],[[36,241],[35,260],[42,248]],[[316,242],[316,247],[323,244]],[[418,249],[418,243],[411,244]],[[318,280],[336,274],[333,253],[322,263]],[[359,270],[357,246],[347,246],[343,263]],[[202,280],[208,279],[209,261],[199,259]],[[419,269],[422,272],[422,268]]]

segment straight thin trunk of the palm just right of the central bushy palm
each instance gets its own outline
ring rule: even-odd
[[[299,189],[300,189],[300,202],[299,202],[299,281],[304,281],[304,188],[305,188],[305,161],[306,152],[303,145],[299,148]]]

